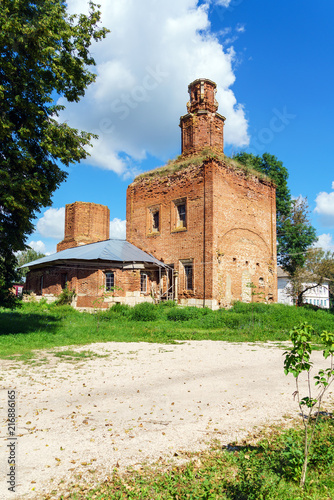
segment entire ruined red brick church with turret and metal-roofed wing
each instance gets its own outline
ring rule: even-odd
[[[201,78],[188,90],[181,156],[128,186],[126,240],[109,239],[107,207],[67,205],[64,240],[29,264],[27,289],[55,296],[67,283],[78,308],[103,294],[103,307],[277,300],[275,186],[224,156],[216,84]]]

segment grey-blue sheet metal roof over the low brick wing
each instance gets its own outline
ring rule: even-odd
[[[64,261],[136,262],[155,264],[159,267],[168,267],[163,262],[143,252],[143,250],[140,250],[128,241],[116,239],[68,248],[67,250],[62,250],[61,252],[28,262],[28,264],[24,264],[21,267],[33,268],[45,264],[64,263]]]

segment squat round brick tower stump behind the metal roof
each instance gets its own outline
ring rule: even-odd
[[[76,201],[65,208],[65,237],[57,252],[67,248],[109,239],[109,208],[96,203]]]

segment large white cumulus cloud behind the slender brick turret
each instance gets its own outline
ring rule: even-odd
[[[96,82],[80,103],[66,104],[60,117],[99,135],[89,148],[89,164],[126,175],[147,155],[165,161],[177,154],[188,84],[199,77],[217,83],[219,112],[227,118],[225,143],[248,145],[244,108],[230,88],[235,81],[235,52],[231,46],[223,47],[211,31],[208,4],[200,6],[198,0],[99,3],[102,24],[111,32],[92,47]],[[68,1],[72,13],[87,11],[86,5],[86,0]]]

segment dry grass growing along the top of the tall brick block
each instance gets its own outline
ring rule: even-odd
[[[169,160],[166,163],[166,165],[139,174],[134,179],[134,182],[171,175],[174,174],[175,172],[179,172],[180,170],[184,170],[187,167],[202,165],[204,161],[207,160],[217,160],[224,162],[224,164],[229,168],[231,168],[232,170],[236,172],[238,171],[243,172],[246,175],[246,177],[255,176],[259,179],[272,182],[272,180],[267,175],[255,170],[250,165],[244,165],[235,159],[229,158],[228,156],[224,155],[224,153],[219,153],[210,148],[205,148],[200,153],[197,153],[192,156],[180,155],[174,160]]]

